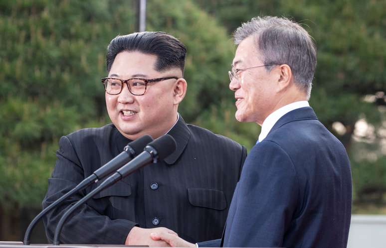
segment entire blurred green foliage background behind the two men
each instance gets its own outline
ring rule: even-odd
[[[21,240],[25,212],[40,208],[60,136],[109,123],[105,52],[136,31],[136,8],[135,0],[0,0],[0,239]],[[385,9],[384,0],[148,0],[147,30],[188,48],[184,119],[249,149],[260,127],[234,119],[231,34],[257,15],[302,23],[318,47],[310,104],[348,150],[354,213],[386,213]]]

